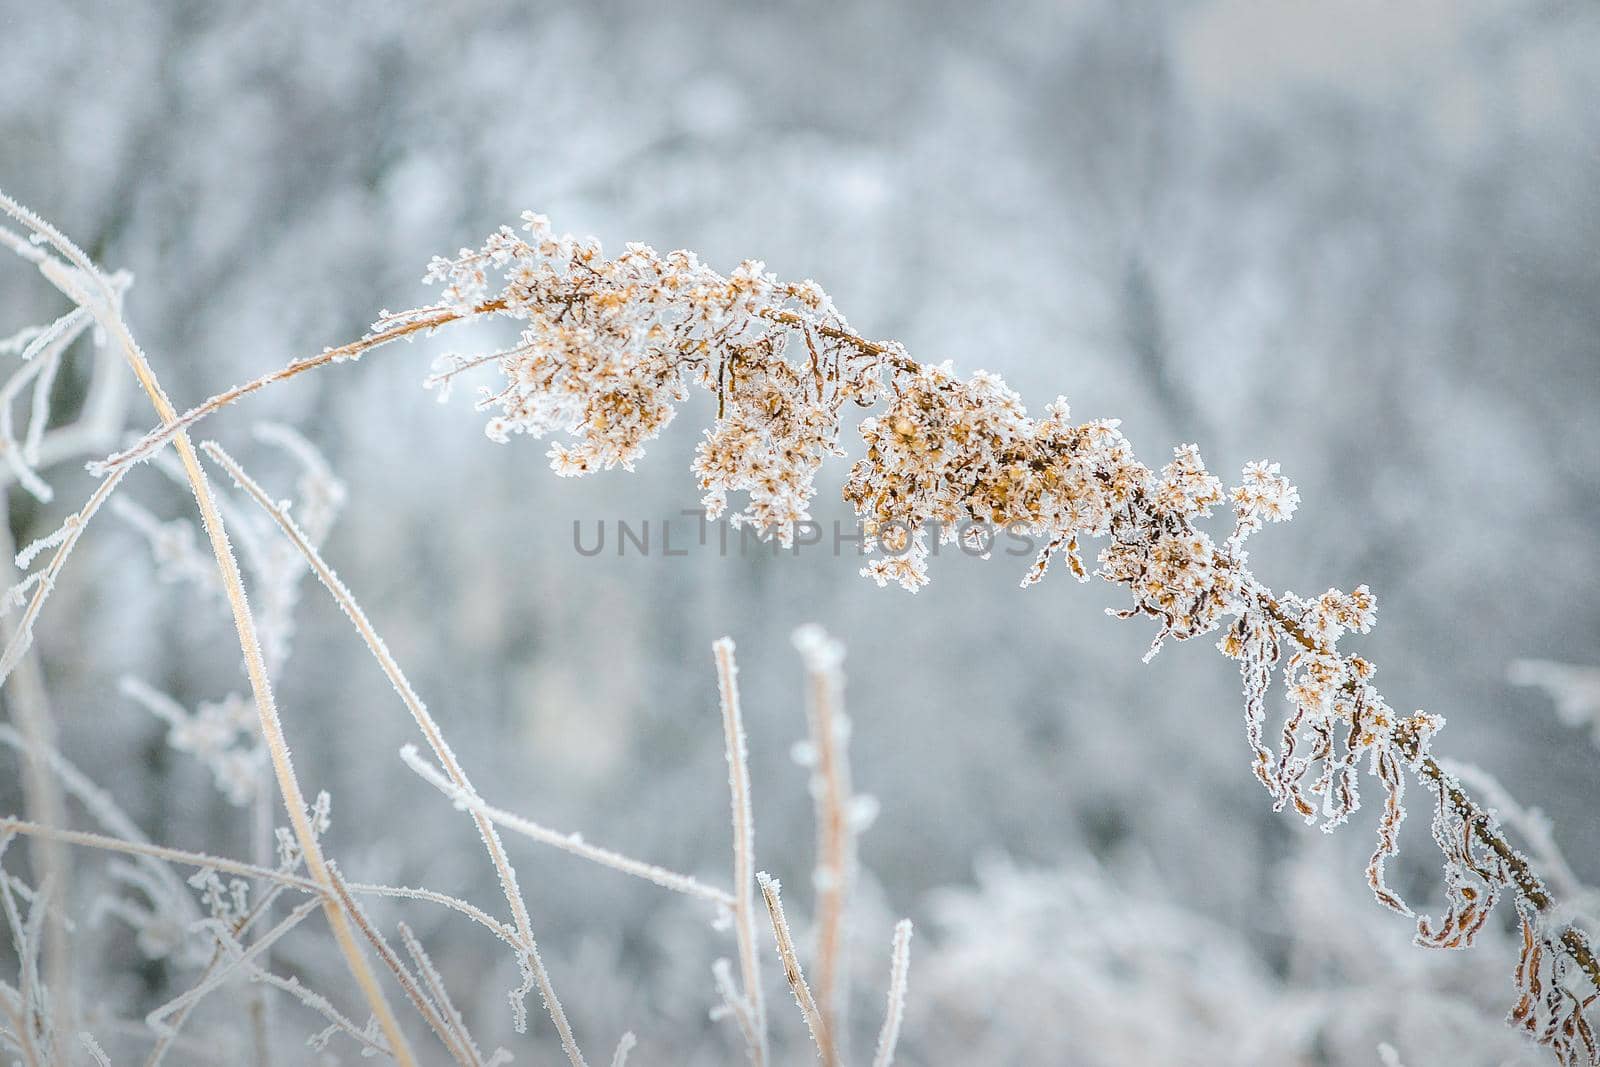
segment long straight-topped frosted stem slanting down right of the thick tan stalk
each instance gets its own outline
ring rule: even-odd
[[[400,701],[411,712],[411,718],[416,720],[418,728],[422,731],[422,737],[427,741],[427,747],[432,749],[434,755],[445,768],[445,774],[450,777],[451,785],[462,790],[464,795],[477,797],[472,789],[472,782],[467,779],[467,773],[461,768],[456,760],[454,752],[451,752],[450,744],[445,741],[443,731],[438,723],[434,721],[432,713],[427,705],[422,704],[422,697],[418,696],[416,689],[411,688],[411,681],[405,677],[400,669],[398,661],[389,651],[389,646],[373,629],[371,621],[366,613],[357,603],[354,593],[344,581],[323,561],[322,553],[310,542],[309,537],[301,531],[299,525],[290,517],[290,514],[251,478],[238,462],[229,456],[221,445],[216,442],[205,442],[202,445],[206,454],[214,459],[234,480],[238,488],[248,494],[262,510],[278,525],[290,542],[299,550],[306,558],[306,563],[317,574],[317,579],[323,584],[328,593],[344,611],[346,617],[360,633],[366,648],[371,651],[373,659],[378,661],[379,669],[389,683],[394,686]],[[517,925],[517,936],[522,941],[522,949],[526,953],[528,963],[533,968],[534,981],[539,985],[539,995],[544,1000],[544,1006],[550,1014],[550,1021],[555,1024],[555,1030],[560,1035],[562,1048],[566,1057],[573,1062],[573,1067],[587,1067],[584,1064],[582,1053],[578,1049],[578,1041],[573,1037],[571,1024],[566,1021],[566,1013],[562,1009],[562,1001],[555,995],[555,987],[550,984],[550,976],[544,968],[544,961],[539,958],[538,942],[533,937],[533,920],[528,915],[528,905],[522,899],[522,888],[517,881],[517,870],[510,865],[510,857],[506,854],[506,846],[499,840],[499,833],[494,830],[491,819],[482,813],[474,811],[474,822],[478,827],[478,837],[483,838],[483,848],[490,854],[490,861],[494,864],[494,872],[499,877],[501,891],[506,894],[506,902],[510,907],[512,921]]]

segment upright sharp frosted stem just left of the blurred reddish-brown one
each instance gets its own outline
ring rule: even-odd
[[[712,645],[717,657],[717,691],[722,702],[722,729],[728,752],[728,800],[733,809],[733,928],[739,942],[739,973],[744,1000],[750,1006],[754,1067],[766,1064],[766,1001],[762,997],[760,953],[755,941],[755,819],[750,814],[749,745],[744,712],[739,707],[739,667],[733,659],[733,638]]]

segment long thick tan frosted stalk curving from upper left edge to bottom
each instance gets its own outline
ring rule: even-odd
[[[0,195],[0,206],[6,206],[13,214],[18,211],[18,205],[3,195]],[[27,219],[24,218],[24,221]],[[46,232],[46,235],[53,234],[53,230],[42,232]],[[58,246],[66,245],[70,248],[70,242],[59,238],[59,235],[53,240]],[[82,253],[78,253],[78,256],[82,256]],[[72,258],[70,253],[69,258]],[[61,288],[62,293],[77,301],[82,307],[90,309],[101,328],[123,349],[123,355],[133,368],[133,374],[139,381],[139,386],[149,397],[150,405],[155,408],[157,416],[163,422],[176,421],[178,413],[173,410],[171,402],[166,398],[166,392],[162,389],[155,373],[150,370],[149,360],[146,360],[144,352],[133,339],[133,334],[128,333],[128,326],[122,315],[114,310],[112,301],[115,299],[115,293],[104,282],[104,278],[91,267],[83,267],[80,264],[83,275],[88,275],[99,283],[101,293],[91,293],[83,288],[80,280],[82,275],[75,275],[54,258],[42,259],[38,262],[38,269],[46,278]],[[288,808],[290,825],[294,830],[301,853],[306,857],[306,870],[323,889],[322,905],[328,917],[328,926],[333,929],[339,952],[344,955],[352,977],[355,977],[357,985],[362,989],[362,995],[371,1008],[373,1017],[378,1019],[378,1025],[389,1041],[390,1053],[395,1061],[402,1064],[402,1067],[414,1067],[416,1057],[406,1043],[405,1032],[400,1029],[400,1022],[389,1008],[389,1001],[386,1000],[382,989],[378,985],[378,979],[368,966],[360,944],[355,941],[350,923],[339,909],[338,897],[331,891],[328,865],[322,854],[322,845],[312,832],[306,808],[306,797],[301,790],[299,779],[294,776],[294,765],[290,758],[288,742],[283,737],[283,725],[278,720],[278,709],[272,699],[272,683],[267,678],[266,661],[261,656],[261,641],[256,635],[254,617],[250,614],[250,603],[245,598],[245,582],[238,573],[238,561],[234,558],[234,550],[227,542],[227,530],[222,525],[222,515],[218,512],[216,499],[211,494],[211,486],[206,483],[205,472],[200,469],[200,461],[195,456],[195,448],[194,443],[190,443],[189,435],[178,430],[173,437],[173,445],[178,450],[178,459],[182,462],[184,475],[189,480],[195,504],[200,509],[200,520],[205,526],[206,537],[211,542],[211,552],[216,555],[218,571],[222,576],[222,589],[227,592],[229,608],[234,614],[234,629],[238,632],[238,646],[245,656],[245,672],[250,677],[250,689],[256,701],[256,713],[261,718],[261,733],[267,742],[272,768],[278,779],[278,792],[282,792],[283,803]],[[102,482],[102,488],[110,482],[112,478],[106,478]],[[62,547],[66,547],[66,544],[62,544]],[[40,592],[43,592],[43,589],[40,589]],[[0,664],[0,670],[5,667],[6,664]]]

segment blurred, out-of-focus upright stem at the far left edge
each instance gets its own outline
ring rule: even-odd
[[[0,488],[0,515],[5,514],[6,496],[6,491]],[[14,555],[16,544],[11,539],[11,525],[0,522],[0,557],[5,557],[0,560],[0,574],[6,574],[6,585],[11,584],[11,558]],[[18,640],[18,625],[10,616],[0,622],[0,633],[5,635],[6,645]],[[18,661],[6,693],[10,696],[6,707],[26,744],[22,809],[34,822],[66,829],[66,797],[48,763],[50,753],[56,750],[56,721],[50,712],[50,697],[45,693],[38,656],[32,648]],[[67,886],[72,885],[72,856],[67,848],[51,838],[35,838],[30,854],[37,880],[61,886],[62,904],[66,904]],[[45,917],[45,985],[50,990],[51,1016],[64,1033],[72,1030],[74,1019],[70,961],[64,915],[61,910],[51,909]]]

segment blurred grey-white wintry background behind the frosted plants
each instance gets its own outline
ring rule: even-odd
[[[1368,582],[1379,625],[1357,648],[1386,696],[1443,713],[1438,749],[1549,813],[1600,881],[1600,752],[1506,681],[1515,657],[1600,661],[1592,5],[53,0],[0,3],[0,187],[134,274],[128,317],[179,408],[430,299],[430,254],[525,208],[608,248],[762,258],[867,336],[1000,373],[1032,408],[1066,394],[1122,418],[1146,462],[1187,440],[1224,477],[1280,461],[1304,502],[1256,539],[1256,573]],[[61,312],[22,266],[0,277],[0,333]],[[581,557],[573,520],[694,506],[709,413],[634,475],[558,480],[539,443],[485,440],[470,397],[419,387],[445,347],[298,379],[203,435],[250,464],[270,418],[326,453],[349,486],[326,555],[490,801],[726,881],[709,646],[731,633],[758,857],[803,917],[789,635],[822,622],[850,649],[856,784],[882,801],[853,1014],[875,1025],[909,913],[907,1062],[1374,1064],[1379,1041],[1413,1065],[1541,1062],[1499,1025],[1506,942],[1434,957],[1371,904],[1370,813],[1331,837],[1270,813],[1210,641],[1141,667],[1150,627],[1101,614],[1115,590],[1024,592],[1026,560],[998,555],[952,553],[915,598],[827,550]],[[133,405],[126,429],[152,421]],[[843,474],[824,475],[824,522],[848,518]],[[93,486],[75,466],[53,482],[48,506],[11,493],[19,542]],[[128,494],[186,514],[154,469]],[[160,582],[107,517],[40,646],[67,755],[155,840],[248,854],[248,816],[118,689],[240,688],[216,601]],[[280,699],[347,872],[493,902],[464,816],[395,755],[413,725],[315,587]],[[0,753],[3,809],[14,771]],[[1397,885],[1430,888],[1426,817],[1406,841]],[[592,1056],[632,1027],[640,1062],[731,1062],[733,1029],[706,1017],[730,949],[702,909],[514,853]],[[509,955],[406,913],[480,1038],[555,1062],[546,1019],[509,1037]],[[192,981],[112,921],[77,944],[125,1017]],[[286,957],[339,977],[314,939]]]

